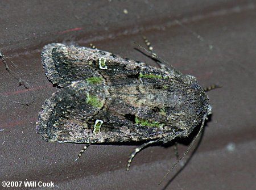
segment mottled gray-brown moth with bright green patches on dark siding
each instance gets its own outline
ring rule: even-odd
[[[166,66],[145,39],[160,67],[96,48],[48,44],[46,75],[60,87],[39,113],[37,131],[48,142],[142,142],[143,147],[187,137],[212,112],[195,77]],[[81,153],[84,151],[82,150]],[[79,156],[81,156],[81,153]]]

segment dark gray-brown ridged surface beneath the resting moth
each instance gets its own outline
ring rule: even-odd
[[[0,52],[16,76],[30,84],[35,102],[24,106],[0,96],[0,180],[53,181],[59,187],[55,189],[253,189],[255,6],[255,1],[2,1]],[[135,145],[92,145],[74,162],[82,145],[47,143],[35,131],[44,100],[57,90],[40,63],[43,45],[93,43],[154,65],[134,50],[133,41],[143,44],[142,36],[150,39],[160,57],[197,77],[202,86],[223,86],[208,92],[213,115],[199,148],[176,178],[169,181],[180,164],[160,186],[175,161],[172,146],[148,147],[126,172]],[[0,71],[1,94],[31,100],[3,64]],[[191,139],[181,141],[180,154]]]

